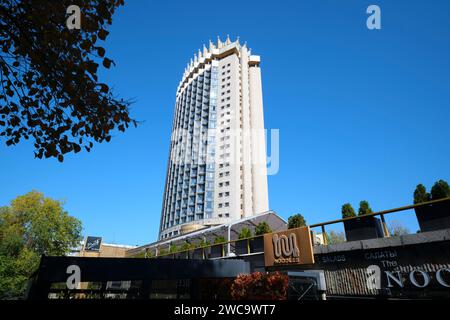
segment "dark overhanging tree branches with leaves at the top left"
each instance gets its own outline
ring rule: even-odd
[[[6,145],[32,139],[37,158],[90,151],[137,122],[129,101],[99,81],[109,69],[104,41],[123,0],[0,0],[0,137]],[[69,30],[70,5],[81,28]]]

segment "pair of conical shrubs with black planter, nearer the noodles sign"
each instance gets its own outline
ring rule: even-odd
[[[369,202],[363,200],[359,203],[358,218],[344,221],[347,241],[384,237],[380,219],[374,216],[365,216],[369,213],[372,213]],[[342,206],[342,218],[350,217],[356,217],[355,210],[349,203],[346,203]]]

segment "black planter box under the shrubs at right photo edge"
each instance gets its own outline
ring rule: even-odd
[[[414,208],[421,232],[450,229],[450,201]]]

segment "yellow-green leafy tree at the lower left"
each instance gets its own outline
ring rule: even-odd
[[[37,191],[0,210],[0,299],[20,297],[41,255],[61,256],[81,240],[81,222]]]

